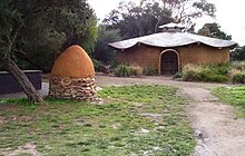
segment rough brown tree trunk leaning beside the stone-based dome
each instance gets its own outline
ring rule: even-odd
[[[11,59],[0,59],[3,62],[3,67],[10,75],[12,75],[19,82],[22,91],[27,95],[28,99],[32,103],[45,104],[42,97],[30,82],[28,77],[20,70],[20,68]]]

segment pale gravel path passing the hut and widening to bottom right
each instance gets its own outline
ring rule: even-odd
[[[180,94],[190,98],[187,111],[196,134],[194,156],[245,156],[245,119],[234,116],[233,107],[224,105],[209,89],[220,84],[184,82],[168,77],[116,78],[97,76],[97,86],[168,85],[178,87]],[[42,84],[42,96],[48,94],[48,84]],[[0,96],[22,97],[23,94]]]

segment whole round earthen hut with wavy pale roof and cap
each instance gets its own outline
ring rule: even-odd
[[[156,69],[159,75],[178,72],[184,65],[225,64],[234,41],[183,32],[176,23],[160,26],[163,32],[109,43],[120,64]]]

